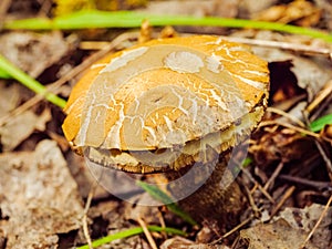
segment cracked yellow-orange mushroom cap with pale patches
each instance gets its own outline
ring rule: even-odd
[[[108,54],[73,87],[63,132],[76,152],[126,172],[208,162],[250,134],[267,62],[212,35],[153,40]]]

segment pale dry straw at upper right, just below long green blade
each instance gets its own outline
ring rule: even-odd
[[[315,48],[312,45],[303,45],[303,44],[295,44],[290,42],[280,42],[280,41],[257,40],[257,39],[247,39],[247,38],[230,38],[230,37],[221,37],[221,38],[225,38],[226,40],[234,41],[234,42],[245,43],[248,45],[290,50],[307,55],[322,55],[324,58],[329,58],[330,60],[332,59],[331,49]]]

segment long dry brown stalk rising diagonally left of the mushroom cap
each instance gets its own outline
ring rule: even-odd
[[[55,81],[54,83],[46,86],[48,92],[52,92],[54,94],[58,93],[60,90],[60,86],[62,86],[65,82],[70,81],[74,76],[76,76],[79,73],[87,69],[91,64],[93,64],[98,59],[103,58],[106,53],[112,51],[114,48],[120,45],[122,42],[129,40],[132,38],[137,38],[138,32],[129,32],[129,33],[123,33],[115,38],[112,42],[108,43],[107,46],[105,46],[103,50],[92,54],[90,58],[84,60],[80,65],[75,66],[73,70],[71,70],[69,73],[66,73],[64,76]],[[17,107],[14,111],[12,111],[10,114],[3,116],[0,118],[0,126],[2,126],[4,123],[10,121],[13,116],[20,115],[40,101],[42,101],[44,97],[43,95],[35,95],[31,100],[27,101],[24,104]]]

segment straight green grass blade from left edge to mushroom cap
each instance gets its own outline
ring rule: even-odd
[[[51,103],[63,108],[65,101],[53,93],[49,93],[46,87],[39,83],[37,80],[14,66],[10,61],[0,54],[0,71],[7,73],[10,77],[15,79],[21,84],[32,90],[37,94],[44,95],[44,97]]]

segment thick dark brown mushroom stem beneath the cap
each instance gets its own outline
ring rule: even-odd
[[[218,162],[196,164],[190,168],[166,174],[170,181],[169,191],[175,199],[188,188],[198,188],[178,204],[197,221],[217,222],[219,230],[237,225],[245,203],[240,187],[228,167],[229,159],[230,153],[227,152]],[[193,177],[183,177],[186,174],[191,174]],[[176,178],[183,180],[175,186],[172,180]]]

